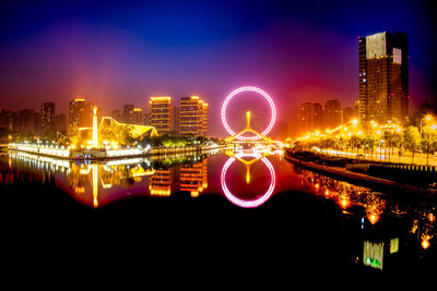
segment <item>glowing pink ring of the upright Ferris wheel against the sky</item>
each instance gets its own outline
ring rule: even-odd
[[[225,126],[225,130],[229,133],[229,135],[234,135],[235,134],[235,132],[229,128],[229,125],[227,124],[227,121],[226,121],[226,107],[227,107],[227,104],[231,101],[231,99],[235,95],[237,95],[237,94],[239,94],[241,92],[255,92],[255,93],[258,93],[258,94],[262,95],[265,98],[265,100],[269,102],[271,111],[272,111],[272,116],[271,116],[269,125],[261,133],[262,135],[267,135],[273,129],[274,122],[276,121],[276,108],[274,106],[274,102],[273,102],[272,98],[269,96],[269,94],[267,94],[264,90],[262,90],[260,88],[251,87],[251,86],[240,87],[238,89],[233,90],[229,95],[227,95],[225,101],[223,102],[222,112],[221,112],[222,122],[223,122],[223,125]],[[249,136],[249,137],[247,137],[247,136],[237,136],[236,138],[240,140],[240,141],[256,141],[256,140],[261,138],[261,136],[259,136],[259,135]]]

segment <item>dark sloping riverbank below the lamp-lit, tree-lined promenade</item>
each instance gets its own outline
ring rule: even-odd
[[[306,160],[296,155],[292,151],[285,151],[284,155],[285,159],[290,162],[297,165],[303,168],[307,168],[309,170],[320,172],[327,175],[332,175],[333,178],[340,178],[352,182],[354,184],[359,184],[364,186],[370,186],[375,189],[385,189],[385,190],[395,190],[400,192],[408,192],[414,194],[421,194],[422,196],[426,197],[437,197],[437,190],[417,186],[414,184],[398,182],[393,180],[382,179],[378,177],[373,177],[366,173],[355,172],[346,169],[345,165],[351,160],[338,160],[338,166],[329,166],[322,165],[317,161]],[[341,166],[343,165],[343,166]]]

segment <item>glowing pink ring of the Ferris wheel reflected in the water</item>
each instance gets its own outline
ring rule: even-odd
[[[259,158],[259,157],[261,157],[261,155],[239,153],[236,155],[236,157],[238,157],[238,158],[244,158],[244,157]],[[222,190],[225,193],[226,198],[228,201],[231,201],[233,204],[235,204],[239,207],[244,207],[244,208],[255,208],[255,207],[262,205],[264,202],[267,202],[270,198],[270,196],[273,193],[274,186],[276,184],[276,174],[274,172],[274,168],[273,168],[272,163],[265,157],[261,157],[261,161],[267,166],[267,168],[270,171],[270,177],[271,177],[270,186],[261,197],[253,199],[253,201],[245,201],[245,199],[240,199],[240,198],[236,197],[233,193],[231,193],[231,191],[227,189],[227,185],[226,185],[226,172],[227,172],[227,169],[229,168],[229,166],[234,161],[235,161],[235,158],[231,157],[225,162],[225,165],[223,166],[223,169],[222,169],[222,175],[221,175]]]

